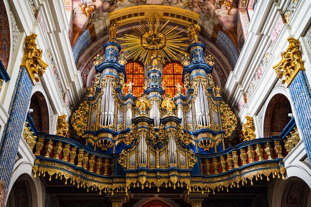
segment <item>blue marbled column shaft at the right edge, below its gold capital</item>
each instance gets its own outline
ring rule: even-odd
[[[311,159],[311,88],[305,70],[300,70],[288,87],[295,110],[295,120]]]

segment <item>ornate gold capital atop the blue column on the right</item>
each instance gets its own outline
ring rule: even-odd
[[[305,70],[305,67],[299,50],[299,41],[293,37],[287,40],[290,43],[288,48],[281,53],[281,61],[272,68],[279,78],[284,78],[282,83],[287,83],[289,87],[299,70]]]

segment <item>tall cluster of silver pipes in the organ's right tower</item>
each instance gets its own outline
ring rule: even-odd
[[[203,126],[209,126],[210,121],[210,110],[208,106],[207,96],[204,92],[202,83],[200,82],[197,97],[195,99],[195,117],[196,123]]]

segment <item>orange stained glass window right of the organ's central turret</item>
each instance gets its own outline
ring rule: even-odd
[[[175,84],[182,83],[182,72],[183,67],[178,63],[168,63],[163,67],[163,81],[165,82],[165,94],[169,93],[172,97],[177,93],[177,88]],[[181,92],[185,94],[185,89],[182,88]]]

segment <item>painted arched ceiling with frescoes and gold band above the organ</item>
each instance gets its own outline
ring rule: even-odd
[[[226,84],[238,58],[234,0],[64,0],[64,3],[67,12],[72,3],[69,35],[84,87],[89,87],[92,79],[93,57],[103,54],[102,45],[108,40],[110,23],[116,21],[117,37],[124,37],[153,12],[160,21],[170,19],[168,26],[177,25],[176,30],[184,30],[183,36],[191,23],[201,26],[200,41],[207,47],[205,55],[215,57],[213,76],[219,85]]]

